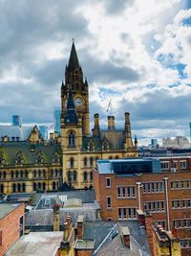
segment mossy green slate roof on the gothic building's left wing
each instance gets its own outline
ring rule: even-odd
[[[41,152],[44,157],[44,163],[53,163],[53,153],[57,151],[61,156],[61,146],[59,144],[36,144],[30,142],[1,142],[0,153],[3,152],[6,164],[14,165],[15,157],[18,151],[22,151],[25,164],[34,164],[36,153]]]

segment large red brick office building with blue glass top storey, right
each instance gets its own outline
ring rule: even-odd
[[[167,231],[177,230],[182,255],[191,255],[191,172],[161,172],[160,162],[154,159],[150,159],[148,172],[145,161],[97,162],[94,187],[101,217],[108,221],[137,220],[138,209],[150,212],[153,221]]]

